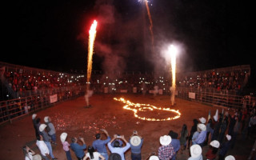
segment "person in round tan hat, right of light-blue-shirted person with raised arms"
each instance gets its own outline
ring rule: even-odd
[[[130,153],[132,160],[142,159],[142,145],[144,139],[138,135],[138,131],[134,130],[134,133],[130,136]]]

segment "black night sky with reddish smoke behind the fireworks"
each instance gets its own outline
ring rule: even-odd
[[[88,30],[98,20],[93,70],[158,71],[163,50],[182,51],[179,70],[253,65],[253,5],[241,1],[138,0],[6,2],[1,62],[46,70],[86,70]]]

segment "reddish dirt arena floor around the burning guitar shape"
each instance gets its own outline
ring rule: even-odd
[[[157,107],[170,107],[170,96],[158,95],[134,95],[134,94],[94,94],[90,98],[91,108],[85,108],[86,102],[83,97],[70,100],[68,102],[58,103],[56,106],[40,110],[37,112],[38,117],[43,118],[50,116],[57,130],[57,145],[53,145],[54,156],[60,160],[66,159],[66,154],[62,150],[60,142],[60,134],[66,132],[68,141],[71,142],[71,137],[83,137],[86,146],[89,146],[94,141],[94,134],[100,129],[106,129],[113,138],[114,134],[123,134],[128,140],[134,130],[138,130],[138,134],[144,138],[142,146],[142,159],[146,160],[152,152],[158,152],[160,146],[159,137],[169,133],[169,130],[174,130],[180,133],[182,125],[186,124],[188,130],[192,126],[194,118],[207,118],[209,110],[212,116],[215,114],[216,107],[206,106],[198,102],[190,102],[176,98],[174,110],[181,112],[181,117],[178,119],[164,122],[149,122],[135,118],[131,110],[122,108],[124,103],[115,101],[114,98],[126,98],[134,103],[146,103]],[[222,108],[218,108],[219,112]],[[35,145],[36,139],[34,127],[30,113],[27,116],[14,120],[11,124],[0,126],[0,159],[24,159],[22,146],[30,146],[37,154],[40,154]],[[162,110],[142,110],[138,112],[138,116],[146,118],[170,118],[177,114],[162,111]],[[255,138],[243,139],[242,135],[238,136],[238,140],[234,149],[229,150],[228,154],[235,155],[236,159],[247,159],[254,145]],[[202,154],[204,159],[209,146],[204,146]],[[77,159],[74,152],[71,150],[73,159]],[[185,160],[189,158],[189,150],[181,154],[178,152],[177,159]],[[126,160],[130,160],[130,150],[126,152]]]

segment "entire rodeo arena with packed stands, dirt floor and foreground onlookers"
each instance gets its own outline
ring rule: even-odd
[[[177,73],[175,87],[167,72],[0,65],[1,159],[255,159],[250,65]]]

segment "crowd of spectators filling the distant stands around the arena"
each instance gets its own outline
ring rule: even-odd
[[[200,72],[178,73],[176,86],[194,89],[212,88],[215,90],[242,90],[250,78],[250,69],[235,68],[222,70],[206,70]],[[85,86],[86,74],[65,74],[50,70],[34,72],[32,70],[5,70],[3,73],[8,86],[14,92],[26,90],[47,90],[59,87]],[[3,81],[3,79],[2,79]],[[170,93],[170,74],[156,76],[155,74],[102,74],[92,72],[90,87],[94,92],[102,92],[108,87],[110,92],[127,90],[132,92],[137,87],[138,92],[142,90],[154,90],[154,86]],[[143,88],[143,89],[142,89]]]

